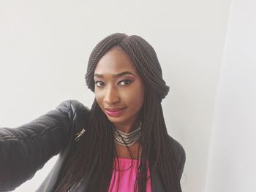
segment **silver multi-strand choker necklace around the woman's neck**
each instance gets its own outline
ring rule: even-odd
[[[116,144],[121,146],[131,146],[140,138],[141,135],[141,126],[136,128],[134,131],[129,133],[124,133],[118,128],[113,127],[113,136]]]

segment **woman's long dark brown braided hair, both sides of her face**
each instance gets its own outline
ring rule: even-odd
[[[158,172],[166,191],[179,192],[181,186],[176,155],[167,134],[161,105],[169,87],[162,79],[162,69],[154,48],[145,39],[135,35],[116,33],[105,37],[94,47],[89,57],[86,85],[94,91],[94,70],[99,59],[112,47],[120,47],[127,53],[145,82],[144,101],[140,114],[142,151],[135,191],[146,192],[149,166],[151,174]],[[89,179],[88,191],[108,191],[113,173],[114,155],[116,155],[112,126],[113,124],[94,100],[86,134],[72,150],[71,158],[64,168],[63,179],[56,191],[67,191],[73,184],[78,183],[86,172],[94,172]],[[91,168],[93,164],[97,166]]]

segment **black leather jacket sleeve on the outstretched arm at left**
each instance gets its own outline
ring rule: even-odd
[[[78,101],[63,101],[18,128],[0,128],[0,191],[12,191],[69,142]]]

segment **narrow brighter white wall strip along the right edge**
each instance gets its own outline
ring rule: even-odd
[[[208,164],[207,192],[256,191],[256,1],[233,0]]]

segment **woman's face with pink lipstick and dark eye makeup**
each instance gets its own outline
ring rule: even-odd
[[[129,56],[113,47],[94,71],[97,103],[115,126],[132,126],[143,105],[144,83]]]

